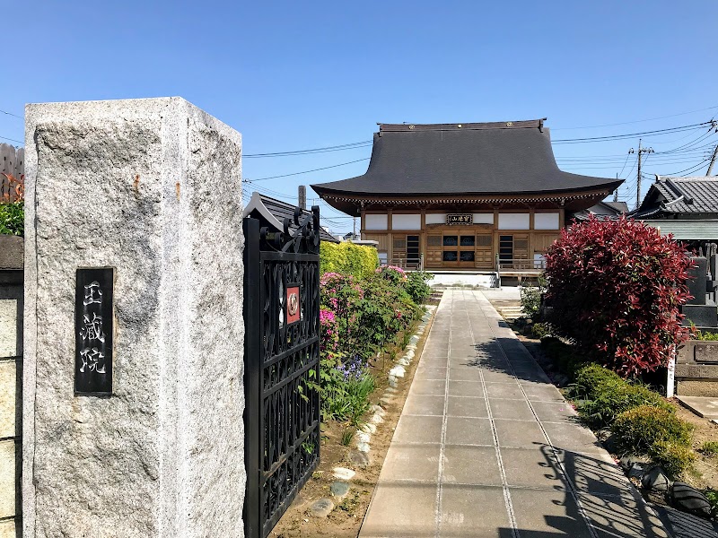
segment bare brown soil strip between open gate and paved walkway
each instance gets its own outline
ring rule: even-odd
[[[436,304],[436,302],[438,301],[430,301],[429,304]],[[376,433],[372,435],[370,443],[372,449],[369,453],[371,463],[365,468],[361,468],[349,460],[349,453],[356,449],[356,438],[353,438],[348,446],[344,446],[342,445],[342,435],[346,430],[355,431],[354,427],[347,423],[338,423],[336,421],[323,423],[321,428],[320,465],[269,536],[275,538],[293,536],[355,538],[355,536],[358,536],[369,502],[372,499],[374,487],[379,480],[381,466],[384,464],[391,438],[394,436],[399,416],[402,409],[404,409],[408,390],[414,379],[416,365],[421,357],[421,351],[424,349],[431,323],[432,321],[426,325],[425,332],[416,345],[415,359],[407,367],[405,377],[399,380],[398,392],[393,395],[393,400],[390,404],[387,404],[384,408],[386,412],[383,417],[384,421],[377,424]],[[389,387],[389,370],[394,366],[394,358],[401,353],[402,351],[399,349],[386,352],[370,365],[372,375],[377,381],[377,387],[370,397],[372,404],[379,404],[381,396]],[[346,467],[356,472],[355,477],[348,481],[351,489],[342,501],[333,498],[329,490],[332,482],[337,481],[332,474],[335,467]],[[327,517],[310,516],[309,509],[311,504],[315,500],[322,498],[332,499],[336,507]]]

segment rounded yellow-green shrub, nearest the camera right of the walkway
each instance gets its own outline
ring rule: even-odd
[[[611,431],[623,454],[665,458],[679,455],[677,447],[690,448],[693,425],[665,407],[639,405],[620,413]]]

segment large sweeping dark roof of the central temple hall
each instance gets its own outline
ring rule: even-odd
[[[513,195],[617,188],[622,181],[558,169],[543,120],[381,124],[369,169],[312,185],[320,195]]]

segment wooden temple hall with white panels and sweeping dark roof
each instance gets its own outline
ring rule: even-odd
[[[380,124],[363,176],[311,187],[361,217],[381,261],[430,271],[536,271],[574,213],[622,180],[558,169],[543,119]]]

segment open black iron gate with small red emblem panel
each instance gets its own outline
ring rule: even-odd
[[[284,231],[244,219],[248,538],[265,538],[320,460],[320,211]]]

